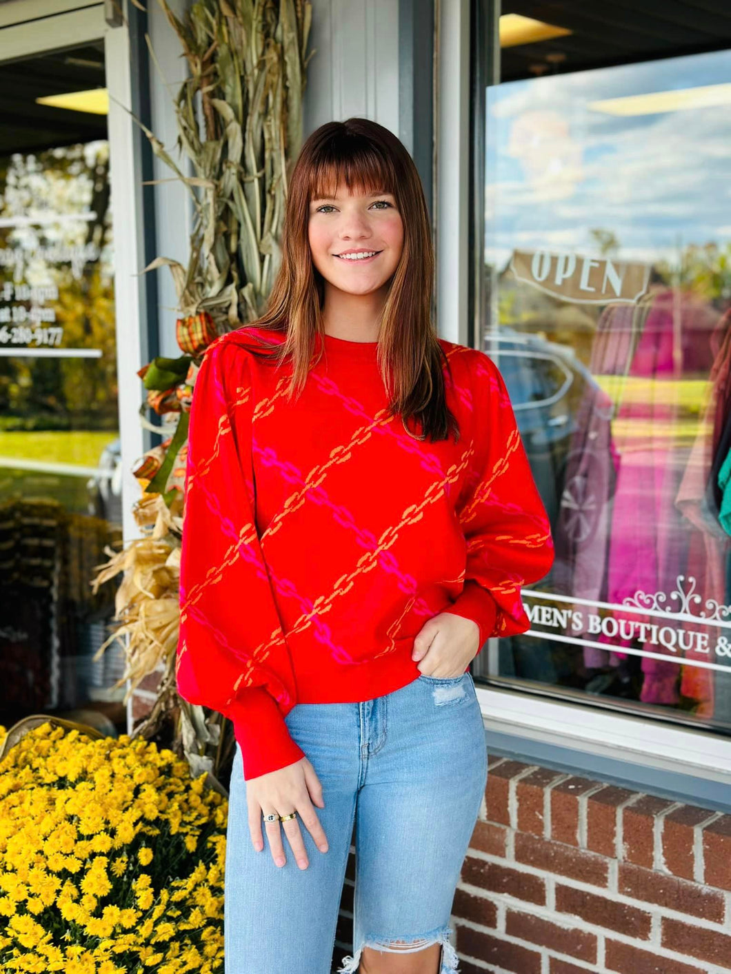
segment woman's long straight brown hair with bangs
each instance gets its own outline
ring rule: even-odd
[[[445,365],[451,370],[432,322],[434,248],[429,213],[418,170],[393,132],[365,118],[327,122],[302,145],[289,180],[282,231],[282,263],[265,313],[239,329],[268,328],[284,334],[266,345],[267,359],[291,362],[289,397],[301,393],[315,361],[316,335],[324,335],[325,281],[314,266],[308,237],[312,200],[345,182],[349,191],[391,193],[404,224],[401,260],[391,278],[380,319],[377,361],[390,396],[392,415],[401,413],[404,429],[419,439],[446,439],[459,425],[446,404]],[[321,350],[322,355],[322,350]],[[408,429],[410,419],[420,425]]]

